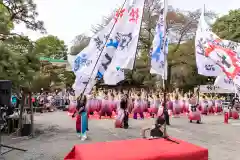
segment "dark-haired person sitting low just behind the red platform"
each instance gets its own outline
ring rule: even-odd
[[[163,125],[166,123],[165,119],[161,116],[157,117],[155,125],[152,128],[145,128],[142,130],[143,138],[146,138],[146,131],[150,130],[150,139],[153,138],[162,138],[163,134]]]

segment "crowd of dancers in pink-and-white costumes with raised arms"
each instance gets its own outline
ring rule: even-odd
[[[84,97],[84,104],[81,104],[81,107],[77,107],[78,100],[81,100],[79,98],[82,97]],[[93,114],[97,114],[99,119],[103,116],[110,118],[115,116],[115,127],[117,128],[128,128],[130,114],[133,116],[133,119],[144,119],[145,115],[149,114],[152,118],[157,118],[158,122],[163,122],[159,118],[164,117],[166,120],[164,122],[168,125],[170,125],[169,115],[179,116],[180,114],[187,114],[200,116],[201,114],[221,114],[223,112],[223,102],[226,101],[225,97],[219,95],[207,96],[190,92],[185,94],[180,92],[167,93],[164,101],[164,94],[161,91],[150,93],[145,90],[117,91],[102,89],[94,90],[87,96],[76,98],[74,95],[71,95],[69,98],[69,114],[78,112],[79,108],[84,106],[84,109],[81,109],[81,113],[86,112],[88,117]],[[232,109],[237,110],[238,108],[239,106],[235,105]],[[194,119],[194,116],[192,119]],[[81,118],[81,116],[78,118]]]

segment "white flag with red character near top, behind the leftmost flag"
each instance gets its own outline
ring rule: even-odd
[[[112,41],[118,42],[117,50],[111,60],[109,69],[133,69],[139,33],[142,22],[143,8],[145,0],[128,0],[129,5],[119,12],[123,15],[124,24],[114,32]]]

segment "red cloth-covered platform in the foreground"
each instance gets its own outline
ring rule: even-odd
[[[208,150],[174,139],[133,139],[75,145],[64,160],[208,160]]]

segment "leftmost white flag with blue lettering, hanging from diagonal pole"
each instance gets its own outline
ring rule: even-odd
[[[129,8],[129,6],[130,1],[125,0],[123,8]],[[76,75],[74,88],[79,90],[78,93],[86,89],[86,79],[88,82],[91,82],[95,80],[97,75],[104,76],[104,72],[107,70],[120,44],[121,33],[118,30],[124,26],[126,17],[128,17],[128,13],[118,10],[110,23],[95,34],[88,46],[76,56],[73,64],[73,72]],[[117,70],[115,71],[118,72]]]

